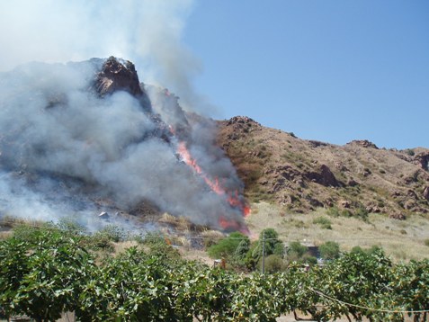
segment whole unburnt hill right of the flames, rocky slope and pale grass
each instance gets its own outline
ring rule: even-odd
[[[255,237],[275,228],[285,241],[382,246],[398,261],[429,257],[428,148],[335,146],[246,117],[219,121],[218,142],[246,183]]]

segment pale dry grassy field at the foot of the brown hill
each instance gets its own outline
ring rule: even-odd
[[[322,218],[322,219],[320,219]],[[324,228],[325,222],[330,228]],[[328,240],[349,251],[353,246],[381,246],[395,261],[420,260],[429,257],[429,220],[419,215],[406,220],[390,219],[382,214],[370,214],[367,220],[330,217],[319,209],[308,214],[287,213],[267,202],[252,205],[246,219],[251,237],[257,238],[264,228],[274,228],[285,241],[299,241],[318,246]]]

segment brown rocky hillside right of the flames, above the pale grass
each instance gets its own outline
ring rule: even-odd
[[[219,121],[218,142],[251,201],[272,201],[295,212],[325,207],[397,219],[429,212],[428,148],[378,148],[368,140],[336,146],[247,117]]]

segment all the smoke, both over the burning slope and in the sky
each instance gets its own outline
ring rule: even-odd
[[[192,6],[192,0],[0,2],[0,71],[28,61],[113,55],[133,61],[145,83],[179,94],[188,110],[211,111],[192,89],[201,64],[182,42]],[[127,209],[151,201],[212,226],[219,216],[241,221],[225,196],[210,192],[201,177],[178,162],[174,142],[162,139],[159,124],[142,112],[139,100],[124,92],[103,99],[88,92],[94,72],[89,63],[32,63],[0,77],[0,215],[85,215],[97,208],[92,202],[100,197]],[[148,91],[154,111],[166,124],[186,129],[184,139],[201,166],[228,189],[242,189],[214,144],[210,121],[190,126],[177,101],[154,88]],[[58,175],[85,184],[68,180],[53,189]],[[88,183],[93,186],[85,198]],[[49,193],[53,196],[47,198]]]

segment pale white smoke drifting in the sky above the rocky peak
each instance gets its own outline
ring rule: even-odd
[[[146,83],[179,94],[188,110],[213,112],[192,88],[201,63],[183,45],[193,0],[0,2],[0,71],[29,61],[126,58]]]

